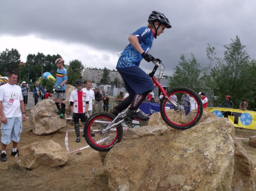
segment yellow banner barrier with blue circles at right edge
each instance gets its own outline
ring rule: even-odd
[[[225,117],[234,125],[247,129],[256,129],[256,111],[237,110],[222,107],[207,107],[217,117]]]

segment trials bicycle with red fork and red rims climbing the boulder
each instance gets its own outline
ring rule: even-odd
[[[186,87],[177,87],[167,92],[159,82],[163,76],[164,68],[161,66],[163,64],[159,59],[152,62],[154,68],[149,76],[154,82],[154,87],[158,86],[159,91],[163,93],[163,99],[160,101],[160,113],[164,122],[174,129],[185,130],[193,127],[203,114],[203,104],[199,95]],[[160,68],[158,80],[154,76],[157,68]],[[184,94],[189,95],[189,102],[181,100]],[[132,121],[126,117],[127,111],[128,108],[117,116],[108,112],[98,112],[89,117],[84,124],[84,137],[88,145],[97,151],[104,152],[109,151],[114,144],[120,142],[123,137],[123,125]],[[138,113],[150,118],[139,109]],[[95,136],[91,135],[92,131]]]

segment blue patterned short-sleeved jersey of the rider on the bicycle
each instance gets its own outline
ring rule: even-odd
[[[145,52],[150,51],[154,40],[154,34],[150,28],[143,26],[131,35],[134,35],[138,38],[141,48]],[[134,47],[132,47],[131,44],[128,44],[122,55],[119,57],[116,68],[139,66],[142,58],[142,55]]]

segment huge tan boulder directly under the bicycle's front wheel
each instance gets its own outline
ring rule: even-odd
[[[234,126],[205,113],[207,118],[185,131],[164,131],[166,124],[156,114],[155,122],[151,118],[143,130],[132,130],[146,136],[124,132],[131,139],[115,144],[102,160],[110,190],[231,190]],[[159,126],[153,131],[158,135],[152,135],[152,125]]]

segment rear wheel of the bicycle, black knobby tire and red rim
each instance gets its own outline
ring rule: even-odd
[[[104,127],[115,119],[115,115],[107,112],[99,112],[87,119],[84,124],[84,138],[88,145],[93,149],[106,152],[109,151],[114,144],[120,142],[123,137],[123,126],[110,129],[106,133],[102,133]],[[91,135],[91,132],[95,136]],[[91,131],[91,132],[90,132]]]

